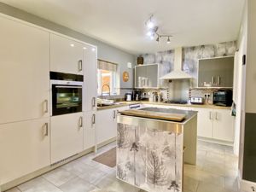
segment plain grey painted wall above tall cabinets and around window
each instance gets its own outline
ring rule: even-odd
[[[131,62],[132,66],[134,66],[135,61],[136,61],[135,55],[126,53],[125,51],[123,51],[121,49],[117,49],[117,48],[113,47],[112,45],[105,44],[99,40],[96,40],[95,38],[90,38],[88,36],[85,36],[84,34],[82,34],[80,32],[75,32],[72,29],[67,28],[66,26],[60,26],[58,24],[55,24],[54,22],[51,22],[49,20],[44,20],[36,15],[29,14],[23,10],[16,9],[16,8],[11,7],[4,3],[0,3],[0,13],[16,17],[20,20],[26,20],[27,22],[30,22],[32,24],[35,24],[38,26],[43,26],[44,28],[48,28],[49,30],[53,30],[55,32],[60,32],[62,34],[70,36],[72,38],[77,38],[86,43],[96,45],[98,48],[98,59],[112,61],[114,63],[119,64],[120,87],[121,88],[132,88],[133,87],[133,70],[127,68],[127,62]],[[121,74],[124,71],[127,71],[128,73],[130,73],[130,79],[128,82],[123,82],[121,79],[122,78]],[[123,95],[124,92],[125,91],[121,91],[121,94]]]

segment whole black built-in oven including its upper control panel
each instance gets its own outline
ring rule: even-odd
[[[83,76],[50,72],[51,115],[82,112]]]

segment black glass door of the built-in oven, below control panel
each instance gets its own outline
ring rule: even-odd
[[[82,85],[52,84],[52,116],[82,112]]]

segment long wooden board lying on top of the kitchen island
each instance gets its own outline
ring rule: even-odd
[[[161,119],[161,120],[172,120],[181,122],[185,119],[185,114],[177,114],[177,113],[162,113],[162,112],[152,112],[152,111],[143,111],[143,110],[125,110],[119,112],[121,114],[136,116],[136,117],[144,117],[151,119]]]

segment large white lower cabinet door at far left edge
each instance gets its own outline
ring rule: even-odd
[[[0,185],[49,166],[49,118],[0,125]]]

